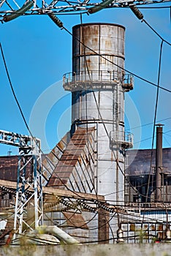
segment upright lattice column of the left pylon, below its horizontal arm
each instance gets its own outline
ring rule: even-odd
[[[34,230],[39,225],[43,225],[41,157],[20,152],[15,200],[15,236],[28,229]]]

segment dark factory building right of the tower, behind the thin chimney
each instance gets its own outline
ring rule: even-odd
[[[156,188],[156,150],[126,152],[125,203],[153,203]],[[171,148],[162,150],[161,202],[171,202]]]

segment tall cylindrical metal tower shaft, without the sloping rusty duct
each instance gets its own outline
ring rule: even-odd
[[[124,194],[124,31],[111,23],[80,24],[72,30],[72,127],[96,128],[96,192],[120,204]]]

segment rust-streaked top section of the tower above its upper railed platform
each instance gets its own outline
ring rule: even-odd
[[[74,26],[72,72],[81,75],[84,72],[88,73],[88,70],[96,71],[95,77],[101,71],[122,72],[119,67],[124,66],[124,31],[123,26],[111,23],[86,23]],[[102,59],[102,56],[109,61]]]

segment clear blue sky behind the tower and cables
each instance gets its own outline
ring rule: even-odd
[[[169,5],[170,3],[153,4],[148,7]],[[141,12],[161,37],[171,42],[170,9],[141,9]],[[58,18],[69,31],[72,31],[72,26],[80,23],[80,15],[60,15]],[[94,15],[83,15],[83,23],[91,22],[117,23],[125,26],[126,69],[157,83],[161,39],[145,23],[141,23],[131,10],[113,8]],[[31,131],[42,139],[42,150],[47,153],[69,130],[71,124],[71,95],[62,89],[61,80],[64,73],[72,70],[72,37],[66,31],[59,29],[46,15],[20,17],[0,26],[1,45],[12,85]],[[171,89],[170,56],[171,47],[164,43],[160,84],[167,89]],[[1,56],[0,74],[0,129],[28,135],[9,88]],[[126,99],[128,99],[126,113],[131,118],[132,128],[142,125],[141,130],[139,128],[131,130],[134,133],[134,148],[151,148],[153,132],[151,123],[153,123],[156,88],[134,78],[134,90],[126,95]],[[166,119],[161,121],[164,124],[164,147],[171,146],[170,100],[169,92],[159,91],[156,119],[157,121]],[[133,107],[130,108],[130,105]],[[136,118],[134,120],[135,112],[140,116],[140,121]],[[33,119],[31,113],[36,118]],[[45,124],[41,123],[43,120]],[[144,126],[145,124],[148,125]],[[127,121],[126,126],[128,129]],[[138,143],[140,140],[141,143]],[[0,155],[7,154],[9,148],[12,154],[17,154],[18,148],[0,145]]]

